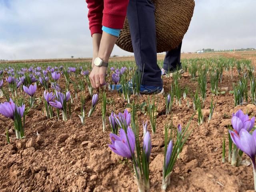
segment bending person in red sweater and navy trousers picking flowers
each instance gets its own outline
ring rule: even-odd
[[[128,18],[132,47],[138,70],[142,73],[141,94],[164,93],[161,69],[157,64],[155,6],[152,0],[86,0],[93,57],[90,82],[99,88],[105,84],[110,54]],[[181,68],[180,45],[166,52],[165,72]],[[118,88],[118,86],[116,86]],[[119,86],[120,89],[120,86]]]

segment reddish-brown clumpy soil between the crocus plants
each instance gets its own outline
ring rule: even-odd
[[[203,55],[203,54],[201,54]],[[184,56],[184,55],[183,55]],[[227,55],[226,55],[227,56]],[[241,55],[242,57],[242,55]],[[246,56],[247,57],[247,56]],[[255,58],[255,56],[254,56]],[[234,71],[233,81],[237,74]],[[182,88],[189,85],[196,88],[186,72],[182,74]],[[164,89],[170,89],[171,78],[164,78]],[[209,86],[209,84],[208,84]],[[220,87],[232,88],[230,74],[224,72]],[[208,87],[209,88],[209,87]],[[42,96],[39,89],[37,97]],[[87,96],[87,114],[91,99]],[[117,94],[107,92],[108,98],[114,98],[116,112],[122,112],[126,102]],[[233,95],[226,92],[214,96],[217,101],[214,116],[208,123],[211,93],[208,92],[204,106],[204,123],[198,126],[197,116],[190,125],[193,132],[180,154],[171,176],[167,191],[253,191],[252,166],[232,167],[222,163],[222,138],[227,138],[227,125],[232,112],[242,109],[249,115],[256,115],[256,106],[248,104],[234,107]],[[78,94],[80,98],[80,93]],[[146,101],[142,96],[140,102]],[[0,99],[1,102],[4,98]],[[194,113],[192,100],[190,108],[182,100],[182,106],[173,108],[173,124],[185,126]],[[25,136],[16,140],[11,120],[0,116],[0,191],[136,191],[130,165],[108,148],[109,126],[102,132],[100,104],[86,124],[81,125],[77,114],[80,113],[80,99],[74,99],[72,119],[67,122],[56,118],[46,120],[42,115],[43,104],[38,103],[26,116]],[[109,112],[112,107],[107,106]],[[226,117],[228,115],[228,117]],[[142,121],[149,120],[138,112],[142,132]],[[164,98],[160,96],[158,107],[157,133],[152,136],[152,154],[150,163],[150,191],[161,191],[163,162],[163,130],[171,121],[171,115],[165,115]],[[11,143],[6,143],[5,128],[8,128]],[[36,135],[36,133],[38,133]],[[226,147],[226,154],[227,154]],[[244,155],[243,159],[249,160]]]

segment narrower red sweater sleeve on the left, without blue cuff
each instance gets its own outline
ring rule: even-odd
[[[103,0],[86,0],[86,2],[89,9],[88,19],[91,35],[94,33],[102,33]]]

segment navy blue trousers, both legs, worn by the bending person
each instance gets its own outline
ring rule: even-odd
[[[163,86],[161,69],[156,57],[155,6],[151,0],[130,0],[127,18],[132,47],[138,69],[142,72],[142,85]],[[166,52],[164,69],[176,69],[180,65],[181,44]]]

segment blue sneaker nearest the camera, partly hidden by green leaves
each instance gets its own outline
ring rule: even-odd
[[[122,86],[120,84],[112,85],[111,90],[117,90],[118,92],[122,93]],[[130,86],[131,94],[133,92],[132,86]],[[163,87],[157,87],[157,86],[144,86],[140,85],[140,94],[163,94],[164,88]]]

